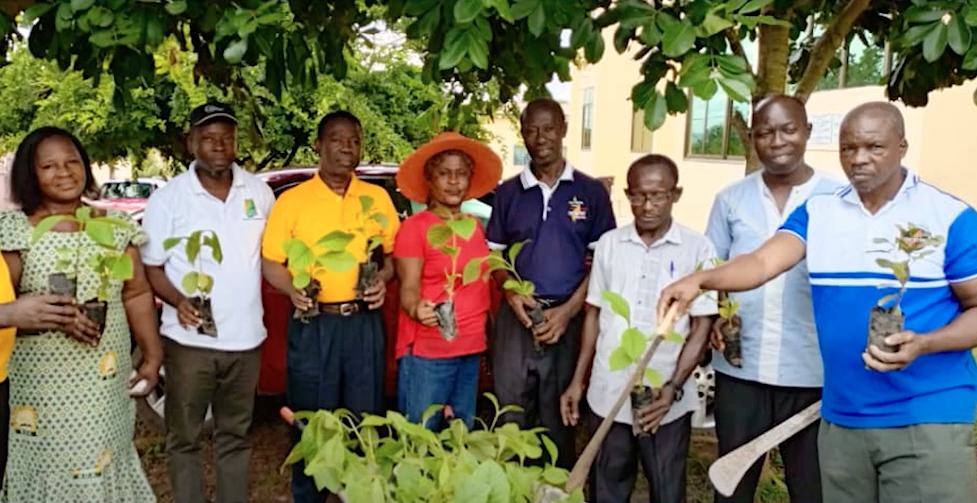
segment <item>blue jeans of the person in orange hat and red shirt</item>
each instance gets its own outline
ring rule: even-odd
[[[450,405],[456,418],[471,429],[478,395],[478,369],[481,355],[452,358],[424,358],[406,355],[400,359],[398,402],[407,419],[420,423],[431,405]],[[438,412],[425,425],[440,431],[446,424]]]

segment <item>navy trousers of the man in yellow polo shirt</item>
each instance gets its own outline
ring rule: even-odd
[[[383,319],[379,311],[350,316],[322,314],[308,324],[288,320],[288,403],[292,410],[345,408],[362,414],[383,412]],[[293,429],[292,440],[300,434]],[[325,492],[292,465],[295,503],[322,501]]]

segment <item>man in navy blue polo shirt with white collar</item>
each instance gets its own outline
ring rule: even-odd
[[[530,165],[496,190],[486,238],[497,250],[525,242],[515,266],[536,286],[536,296],[505,291],[490,350],[495,393],[503,405],[523,408],[506,420],[547,428],[559,450],[556,464],[569,469],[573,429],[563,425],[560,394],[577,361],[588,255],[616,225],[604,185],[563,159],[567,124],[559,103],[535,100],[519,122]],[[496,276],[499,284],[508,277],[504,271]],[[546,321],[533,326],[527,312],[536,303]]]

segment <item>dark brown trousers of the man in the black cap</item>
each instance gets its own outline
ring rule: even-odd
[[[178,503],[205,501],[201,433],[214,413],[217,501],[248,501],[251,443],[261,349],[218,351],[163,338],[166,369],[166,464]]]

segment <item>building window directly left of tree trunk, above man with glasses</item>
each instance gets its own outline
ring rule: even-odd
[[[693,95],[689,110],[686,155],[720,159],[743,157],[743,141],[732,125],[732,117],[739,112],[744,120],[749,120],[749,110],[748,103],[731,101],[721,88],[708,101]]]

